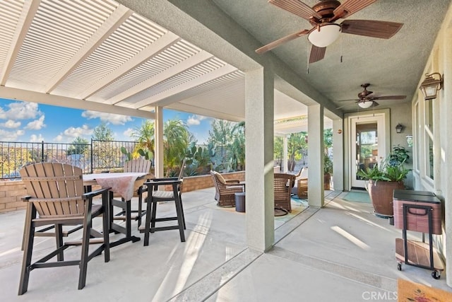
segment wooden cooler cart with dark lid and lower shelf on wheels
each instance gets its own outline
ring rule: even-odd
[[[433,247],[433,234],[441,234],[441,202],[432,192],[394,190],[394,226],[402,228],[403,238],[396,238],[397,269],[402,263],[432,269],[432,277],[439,279],[443,262]],[[422,232],[422,241],[408,240],[407,231]],[[429,242],[425,243],[425,233]]]

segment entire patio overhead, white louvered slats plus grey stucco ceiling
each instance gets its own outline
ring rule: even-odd
[[[341,34],[308,74],[306,37],[254,52],[310,28],[266,0],[0,1],[0,98],[150,118],[164,106],[239,121],[244,74],[267,62],[285,78],[275,81],[275,120],[316,102],[335,115],[356,111],[332,102],[356,98],[362,83],[375,95],[407,95],[379,101],[387,108],[412,99],[450,4],[376,1],[350,19],[403,28],[390,40]]]

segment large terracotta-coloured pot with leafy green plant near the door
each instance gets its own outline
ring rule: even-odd
[[[405,156],[397,160],[396,154],[400,153],[400,150]],[[404,166],[409,158],[407,152],[404,147],[396,146],[393,153],[379,165],[366,170],[361,169],[357,173],[359,177],[369,181],[367,191],[377,216],[392,217],[394,214],[393,191],[405,188],[403,180],[410,171]]]

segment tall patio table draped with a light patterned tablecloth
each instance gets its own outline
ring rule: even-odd
[[[126,242],[136,242],[141,238],[131,235],[131,206],[130,202],[133,197],[133,187],[137,180],[145,180],[148,173],[94,173],[83,175],[83,185],[87,187],[87,191],[91,190],[93,185],[101,187],[111,187],[109,191],[109,229],[110,232],[123,233],[124,238],[110,242],[110,247],[114,247]],[[121,196],[121,200],[113,199],[113,194],[117,193]],[[126,227],[119,226],[114,223],[113,206],[125,209]]]

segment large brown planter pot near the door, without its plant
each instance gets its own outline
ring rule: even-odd
[[[367,184],[367,190],[374,206],[376,215],[392,217],[394,215],[393,210],[393,192],[394,190],[402,190],[403,181],[400,182],[386,182],[369,180]]]

